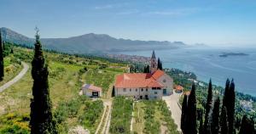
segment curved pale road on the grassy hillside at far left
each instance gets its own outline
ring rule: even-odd
[[[23,65],[23,69],[20,71],[19,75],[16,75],[14,79],[8,81],[2,87],[0,87],[0,92],[3,92],[6,88],[15,84],[16,81],[19,81],[23,77],[23,75],[26,74],[26,71],[29,69],[29,66],[24,62],[21,62],[21,64]]]

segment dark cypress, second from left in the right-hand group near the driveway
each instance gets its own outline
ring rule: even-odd
[[[192,84],[192,89],[189,95],[188,100],[188,114],[187,114],[187,121],[186,121],[187,128],[189,130],[189,134],[196,134],[197,133],[197,126],[196,126],[196,98],[195,98],[195,83]]]

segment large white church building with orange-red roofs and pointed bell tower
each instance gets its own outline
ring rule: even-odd
[[[162,98],[163,95],[171,95],[173,79],[170,75],[166,75],[163,70],[157,70],[156,61],[153,51],[150,73],[117,75],[114,95],[141,99]]]

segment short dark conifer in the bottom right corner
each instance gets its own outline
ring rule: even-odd
[[[241,127],[239,134],[249,134],[254,132],[254,121],[253,119],[248,119],[247,115],[243,115],[241,120]]]

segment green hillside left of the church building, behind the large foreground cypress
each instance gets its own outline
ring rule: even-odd
[[[19,70],[20,60],[31,66],[33,51],[13,47],[14,53],[5,57],[4,81],[9,81]],[[49,64],[49,92],[53,103],[58,131],[67,133],[75,126],[83,126],[92,133],[96,131],[103,114],[102,99],[112,89],[114,75],[125,72],[126,64],[108,59],[76,57],[74,55],[44,52]],[[17,60],[20,59],[20,60]],[[12,72],[12,73],[11,73]],[[31,67],[26,75],[13,86],[0,92],[0,134],[29,133],[30,99],[32,98]],[[0,82],[0,85],[3,85]],[[79,96],[84,83],[102,87],[102,99]]]

